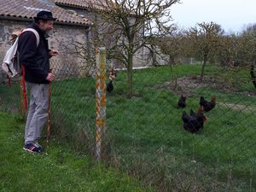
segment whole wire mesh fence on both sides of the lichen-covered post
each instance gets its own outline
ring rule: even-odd
[[[93,155],[100,148],[107,165],[141,179],[145,191],[255,191],[256,89],[249,68],[207,64],[203,78],[201,64],[134,69],[128,98],[126,70],[109,79],[108,67],[107,73],[96,67],[95,77],[77,63],[51,67],[52,139]],[[1,110],[21,111],[18,80],[10,88],[1,84],[0,93]],[[106,102],[99,100],[104,94]],[[185,108],[178,107],[181,95]],[[216,96],[209,112],[200,110],[201,96],[207,102]]]

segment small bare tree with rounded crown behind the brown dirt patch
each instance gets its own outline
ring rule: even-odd
[[[201,67],[201,80],[204,77],[205,67],[207,64],[208,56],[213,49],[219,45],[219,38],[223,35],[224,31],[217,23],[198,23],[198,26],[192,27],[189,30],[189,38],[195,54],[202,57],[203,64]]]

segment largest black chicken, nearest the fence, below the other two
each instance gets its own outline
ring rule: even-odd
[[[204,123],[207,121],[207,117],[202,113],[203,107],[200,107],[198,113],[195,114],[193,110],[190,110],[190,114],[183,112],[183,127],[185,130],[195,133],[204,127]]]

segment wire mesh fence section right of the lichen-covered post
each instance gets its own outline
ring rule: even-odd
[[[255,88],[249,70],[209,65],[203,80],[200,73],[200,65],[135,70],[129,100],[122,95],[125,72],[119,73],[107,96],[115,160],[160,191],[253,191]],[[181,95],[187,96],[184,109],[177,106]],[[191,134],[182,114],[197,113],[201,96],[216,96],[216,106]]]

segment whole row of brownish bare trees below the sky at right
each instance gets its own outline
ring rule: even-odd
[[[194,57],[202,61],[201,80],[207,61],[223,67],[249,67],[256,88],[256,24],[247,26],[241,33],[225,34],[217,23],[202,22],[188,30],[176,30],[172,34],[154,39],[162,54],[169,55],[169,64],[177,57]]]

